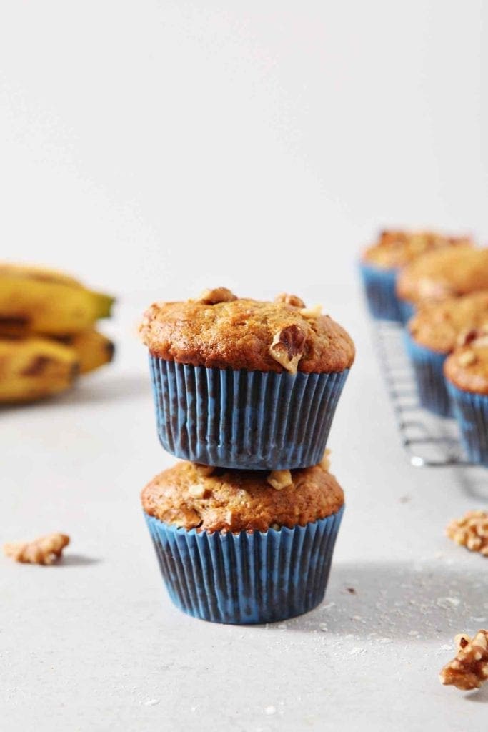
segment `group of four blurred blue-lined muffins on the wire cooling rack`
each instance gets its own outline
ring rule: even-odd
[[[488,249],[465,237],[383,232],[361,273],[373,317],[406,323],[421,406],[456,417],[470,460],[488,464]]]

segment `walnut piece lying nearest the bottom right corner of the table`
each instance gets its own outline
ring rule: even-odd
[[[488,679],[488,631],[478,630],[473,638],[456,636],[456,657],[440,672],[440,682],[463,691],[479,689]]]

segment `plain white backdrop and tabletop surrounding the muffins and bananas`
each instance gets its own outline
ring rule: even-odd
[[[116,365],[1,416],[0,540],[72,536],[60,567],[1,562],[6,730],[486,728],[486,692],[437,680],[488,615],[484,560],[443,538],[486,478],[408,466],[354,267],[383,225],[487,238],[487,23],[478,0],[0,1],[1,256],[119,296]],[[173,610],[138,507],[171,459],[135,326],[220,284],[322,302],[358,346],[326,605],[266,629]]]

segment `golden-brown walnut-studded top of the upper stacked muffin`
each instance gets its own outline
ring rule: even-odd
[[[156,302],[140,334],[154,356],[208,368],[330,373],[354,360],[348,333],[296,295],[261,302],[217,288],[198,300]]]

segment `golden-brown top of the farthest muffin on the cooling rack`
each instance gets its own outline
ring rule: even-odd
[[[397,269],[418,256],[459,244],[470,244],[468,236],[445,236],[435,231],[381,231],[378,241],[363,253],[363,261],[382,269]]]

